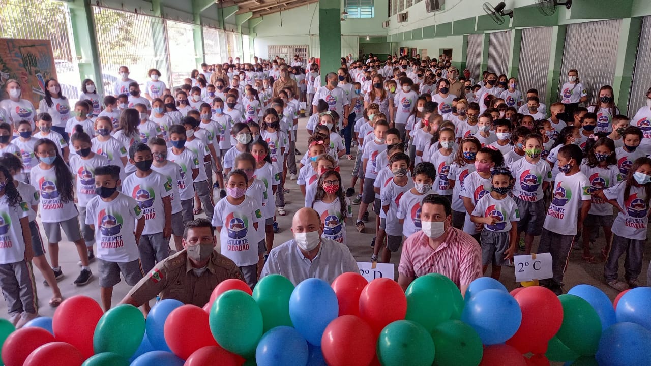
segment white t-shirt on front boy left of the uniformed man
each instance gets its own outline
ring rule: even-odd
[[[118,192],[113,201],[95,196],[86,208],[85,223],[95,225],[96,255],[107,262],[126,263],[140,258],[135,222],[143,211],[132,197]]]

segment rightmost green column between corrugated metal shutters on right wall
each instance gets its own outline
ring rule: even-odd
[[[622,19],[619,28],[617,62],[615,63],[615,78],[613,79],[615,95],[613,95],[613,98],[615,98],[615,104],[624,115],[627,113],[628,100],[631,94],[635,53],[637,53],[641,27],[642,18],[626,18]]]

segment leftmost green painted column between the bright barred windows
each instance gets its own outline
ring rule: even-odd
[[[97,36],[92,22],[92,9],[90,1],[75,0],[68,3],[70,8],[70,23],[72,23],[72,38],[75,44],[75,53],[79,60],[79,77],[92,79],[97,92],[104,94],[102,70],[100,68],[100,52],[97,48]],[[117,73],[117,70],[111,70]]]

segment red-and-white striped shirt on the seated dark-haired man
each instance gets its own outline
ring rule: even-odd
[[[482,276],[482,251],[469,234],[448,227],[445,238],[432,249],[428,237],[419,231],[402,247],[398,274],[407,277],[437,273],[449,277],[458,287]]]

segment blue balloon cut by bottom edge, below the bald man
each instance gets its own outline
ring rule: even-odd
[[[307,357],[307,341],[298,330],[288,326],[277,326],[264,333],[255,350],[258,366],[303,366]]]

